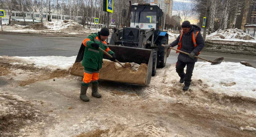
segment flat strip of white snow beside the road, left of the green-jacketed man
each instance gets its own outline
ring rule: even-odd
[[[1,57],[1,56],[0,56]],[[40,57],[9,57],[13,59],[20,59],[23,60],[23,64],[35,64],[34,66],[37,67],[49,67],[52,69],[68,69],[72,67],[73,63],[76,60],[76,56],[72,57],[64,57],[64,56],[40,56]],[[12,65],[15,64],[22,64],[22,63],[11,63]],[[24,64],[24,65],[26,65]]]

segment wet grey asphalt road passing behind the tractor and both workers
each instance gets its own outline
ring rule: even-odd
[[[60,37],[29,34],[0,34],[0,56],[76,56],[86,36]],[[177,61],[178,54],[171,51],[167,63]],[[200,54],[202,58],[214,60],[224,57],[224,61],[246,61],[256,67],[256,57],[225,53]],[[198,60],[202,61],[202,60]]]

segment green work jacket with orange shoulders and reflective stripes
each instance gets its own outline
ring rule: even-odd
[[[99,47],[108,52],[108,54],[113,54],[114,52],[109,49],[105,40],[101,40],[98,33],[91,33],[86,39],[84,39],[83,44],[85,46],[84,58],[82,65],[87,68],[101,69],[103,52],[91,46],[92,43],[99,44]]]

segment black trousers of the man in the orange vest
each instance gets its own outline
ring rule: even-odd
[[[186,74],[184,73],[184,68],[187,65],[187,71]],[[194,70],[195,62],[183,62],[178,60],[176,63],[176,72],[181,78],[185,77],[185,86],[190,86],[191,83],[191,77]]]

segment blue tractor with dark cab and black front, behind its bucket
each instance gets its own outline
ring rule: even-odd
[[[123,9],[122,16],[127,17],[126,9]],[[122,59],[140,63],[147,62],[148,67],[152,67],[151,76],[155,76],[156,68],[165,67],[166,58],[170,53],[170,49],[161,46],[168,44],[168,33],[162,31],[161,28],[162,20],[163,12],[158,5],[154,3],[131,4],[130,1],[128,17],[125,20],[126,27],[113,28],[109,45],[130,47],[128,50],[120,51],[123,55],[127,55]],[[151,54],[148,54],[148,50],[151,50]],[[152,66],[151,62],[148,63],[149,58],[152,58]]]

